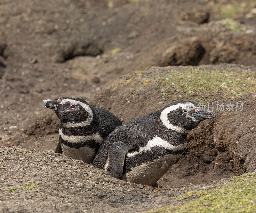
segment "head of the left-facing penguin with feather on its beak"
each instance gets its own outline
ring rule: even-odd
[[[47,101],[45,107],[55,111],[64,127],[87,126],[92,122],[90,105],[80,98],[62,97],[58,101]]]

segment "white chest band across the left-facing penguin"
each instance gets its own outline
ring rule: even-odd
[[[83,141],[91,141],[91,140],[95,140],[97,141],[99,144],[102,143],[103,141],[103,138],[100,137],[100,134],[99,133],[96,133],[96,134],[91,134],[91,135],[86,135],[86,136],[75,136],[75,135],[71,135],[71,136],[68,136],[68,135],[64,135],[62,133],[62,129],[59,129],[59,135],[60,137],[65,140],[65,141],[68,141],[70,143],[81,143]]]

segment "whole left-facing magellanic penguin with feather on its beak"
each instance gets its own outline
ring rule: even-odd
[[[80,98],[62,97],[58,101],[44,102],[61,121],[55,152],[84,163],[92,163],[102,141],[122,124],[109,111],[90,106]]]

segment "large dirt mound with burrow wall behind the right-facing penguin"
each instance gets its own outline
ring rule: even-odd
[[[249,81],[253,83],[252,88],[256,84],[254,80],[256,77],[255,67],[240,67],[227,64],[199,66],[198,68],[182,66],[152,67],[146,71],[133,72],[131,75],[122,77],[113,86],[106,88],[95,101],[97,106],[110,110],[121,118],[123,122],[161,109],[173,100],[181,99],[180,97],[183,100],[191,101],[199,99],[201,103],[206,104],[208,102],[210,104],[212,102],[223,102],[225,104],[245,103],[242,111],[234,109],[230,111],[217,110],[217,117],[214,120],[202,122],[195,130],[189,133],[188,147],[185,153],[158,182],[163,187],[177,187],[189,183],[207,182],[230,177],[237,173],[241,174],[244,171],[252,172],[256,169],[254,164],[256,151],[254,143],[254,121],[256,117],[254,91],[241,90],[240,93],[243,96],[237,94],[239,98],[234,99],[231,95],[229,96],[228,92],[229,89],[232,90],[232,85],[230,85],[230,88],[229,85],[228,87],[220,87],[221,83],[219,83],[220,85],[217,85],[217,87],[224,89],[218,91],[219,88],[214,87],[214,78],[212,78],[208,90],[208,93],[212,94],[206,94],[206,92],[202,92],[202,95],[194,94],[193,90],[196,91],[196,87],[200,87],[197,81],[192,82],[192,91],[186,88],[179,90],[179,88],[184,87],[184,78],[175,77],[176,73],[185,73],[185,78],[193,79],[193,76],[196,76],[196,79],[200,79],[205,76],[204,73],[201,76],[200,70],[204,70],[208,74],[212,72],[218,79],[218,75],[227,75],[230,80],[232,80],[231,78],[235,79],[236,75],[242,81],[249,78]],[[228,71],[219,73],[218,71],[220,70]],[[190,76],[187,73],[190,73]],[[247,73],[250,77],[243,76],[242,73]],[[173,87],[168,87],[167,90],[163,82],[157,80],[159,78],[170,79],[170,83],[166,84],[173,85]],[[222,78],[222,81],[225,81],[225,79]],[[244,83],[247,82],[244,81]],[[207,88],[206,84],[203,85]],[[166,92],[163,94],[165,89]],[[200,90],[202,89],[200,87]],[[217,93],[214,94],[210,89]],[[227,98],[223,99],[223,97]]]

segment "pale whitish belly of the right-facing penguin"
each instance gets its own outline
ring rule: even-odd
[[[165,155],[151,162],[133,167],[131,171],[124,173],[121,179],[132,183],[152,186],[171,168],[172,164],[174,164],[182,154],[183,153],[179,155]]]

